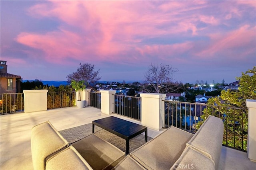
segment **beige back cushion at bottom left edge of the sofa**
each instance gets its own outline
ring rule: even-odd
[[[70,146],[49,158],[46,170],[92,170],[77,150]]]

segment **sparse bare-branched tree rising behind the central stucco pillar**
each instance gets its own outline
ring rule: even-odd
[[[150,64],[144,74],[144,90],[151,93],[174,92],[179,88],[179,83],[173,81],[173,73],[177,70],[177,68],[172,68],[169,65],[160,64],[160,66],[156,66]]]

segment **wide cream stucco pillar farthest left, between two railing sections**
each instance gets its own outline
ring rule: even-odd
[[[24,112],[47,110],[48,90],[23,90],[24,93]]]

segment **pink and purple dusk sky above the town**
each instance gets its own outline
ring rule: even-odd
[[[256,1],[0,1],[1,60],[23,80],[67,80],[80,63],[101,80],[236,81],[256,66]]]

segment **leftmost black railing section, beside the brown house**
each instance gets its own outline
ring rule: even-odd
[[[16,113],[24,111],[23,93],[0,94],[0,114]]]

